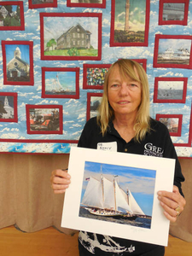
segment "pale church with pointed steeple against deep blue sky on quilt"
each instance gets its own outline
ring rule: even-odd
[[[29,79],[30,66],[21,59],[20,48],[17,47],[14,52],[14,58],[7,64],[8,79]]]

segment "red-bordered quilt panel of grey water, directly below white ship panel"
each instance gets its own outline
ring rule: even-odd
[[[188,78],[155,78],[155,103],[185,103]]]

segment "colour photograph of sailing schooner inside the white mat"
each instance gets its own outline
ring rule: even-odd
[[[155,171],[151,173],[151,170],[149,172],[132,167],[85,162],[79,216],[84,217],[85,214],[87,217],[90,213],[89,218],[94,218],[93,215],[95,215],[108,220],[110,218],[109,221],[135,220],[136,218],[151,220],[154,177]],[[146,195],[145,183],[146,185],[150,183],[152,188],[150,193],[146,189]],[[137,200],[131,193],[133,186],[135,186],[133,190]],[[145,202],[145,207],[142,202]]]

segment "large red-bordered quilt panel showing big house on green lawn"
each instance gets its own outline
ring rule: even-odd
[[[42,60],[102,58],[102,14],[40,13],[40,33]]]

